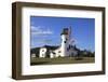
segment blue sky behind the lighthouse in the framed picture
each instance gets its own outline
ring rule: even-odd
[[[30,47],[60,44],[63,28],[71,26],[71,39],[81,50],[95,51],[95,19],[81,17],[30,17]]]

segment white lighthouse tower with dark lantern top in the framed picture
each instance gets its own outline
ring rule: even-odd
[[[62,55],[60,56],[68,56],[68,46],[69,46],[69,38],[70,38],[70,30],[69,28],[64,28],[62,33]]]

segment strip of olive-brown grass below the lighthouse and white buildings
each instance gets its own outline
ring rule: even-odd
[[[31,58],[30,65],[55,65],[55,64],[85,64],[95,63],[94,57],[57,57],[57,58]]]

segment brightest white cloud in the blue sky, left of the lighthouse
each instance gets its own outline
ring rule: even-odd
[[[49,28],[42,29],[40,26],[31,26],[31,33],[32,35],[53,35],[53,31]]]

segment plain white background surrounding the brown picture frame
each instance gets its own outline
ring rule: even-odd
[[[12,16],[11,3],[16,0],[1,0],[0,2],[0,82],[17,82],[11,79],[11,59],[12,59]],[[18,1],[35,1],[44,3],[62,3],[62,4],[80,4],[80,5],[97,5],[106,6],[108,22],[108,0],[18,0]],[[108,26],[108,24],[106,25]],[[108,30],[108,28],[106,28]],[[108,36],[108,32],[107,32]],[[108,45],[108,38],[106,41]],[[107,47],[108,50],[108,47]],[[108,52],[107,52],[108,63]],[[106,76],[87,76],[87,77],[70,77],[70,78],[56,78],[56,79],[41,79],[41,80],[23,80],[19,82],[108,82],[108,64]]]

